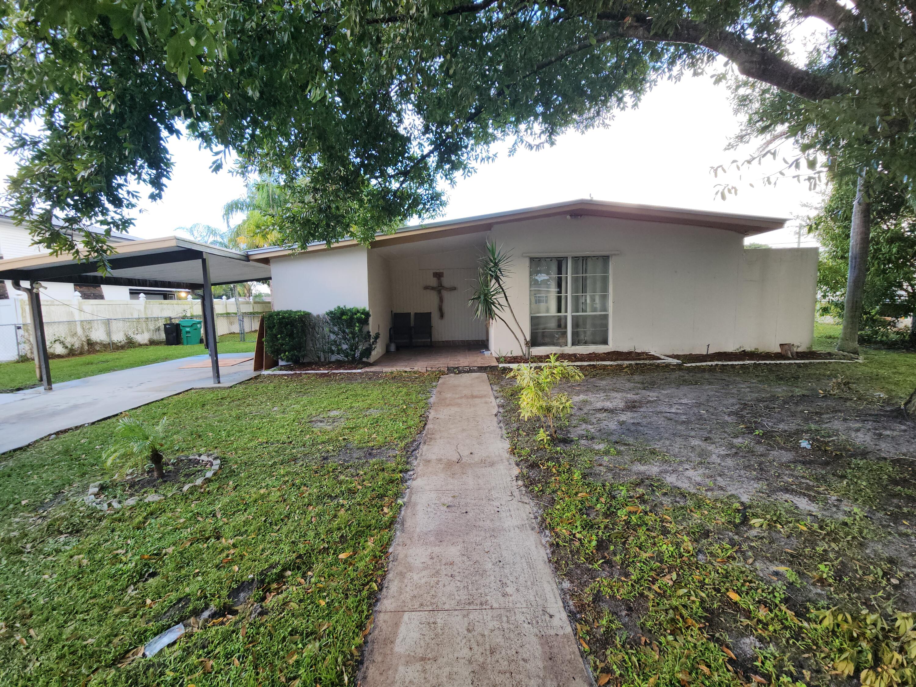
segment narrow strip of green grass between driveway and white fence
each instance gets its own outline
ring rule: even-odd
[[[254,335],[252,335],[253,337]],[[224,334],[220,337],[220,353],[253,353],[255,342],[240,342],[238,334]],[[203,344],[196,346],[139,346],[123,351],[77,355],[71,358],[53,358],[51,365],[52,382],[68,382],[84,376],[102,375],[105,372],[126,370],[140,365],[163,363],[188,355],[206,353]],[[0,391],[16,391],[36,387],[35,363],[0,363]]]

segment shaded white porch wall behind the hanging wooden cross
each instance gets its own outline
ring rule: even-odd
[[[485,341],[485,322],[474,318],[467,301],[474,292],[477,276],[477,251],[474,248],[442,251],[392,260],[391,310],[395,312],[431,312],[432,341]],[[435,286],[433,272],[442,272],[442,286],[455,287],[442,292],[439,319],[439,295],[424,289]]]

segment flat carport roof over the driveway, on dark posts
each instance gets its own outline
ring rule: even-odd
[[[270,266],[251,261],[245,253],[179,236],[113,244],[112,248],[108,274],[100,273],[99,263],[94,260],[79,262],[70,255],[43,253],[0,260],[0,279],[200,289],[204,257],[209,263],[214,286],[270,278]]]

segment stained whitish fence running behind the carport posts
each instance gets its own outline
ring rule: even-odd
[[[218,337],[236,334],[238,341],[254,342],[260,312],[217,314]],[[165,344],[163,324],[180,320],[200,320],[201,316],[95,318],[91,320],[61,320],[45,322],[50,357],[71,357],[120,351],[136,346]],[[34,358],[32,325],[0,324],[0,361],[25,361]]]

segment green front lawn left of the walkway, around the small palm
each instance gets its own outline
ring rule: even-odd
[[[80,499],[95,480],[128,496],[102,460],[115,420],[6,453],[0,684],[354,684],[436,379],[265,376],[133,410],[169,418],[167,458],[218,453],[222,470],[108,515]],[[230,593],[252,580],[234,608]],[[119,667],[209,606],[209,624]]]

